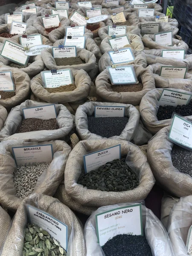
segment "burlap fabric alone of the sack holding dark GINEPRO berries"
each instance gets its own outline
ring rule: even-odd
[[[169,88],[169,90],[174,90],[178,92],[186,92],[185,90]],[[188,90],[191,91],[191,90]],[[145,127],[152,134],[156,134],[160,129],[168,126],[171,122],[171,119],[165,119],[158,121],[157,111],[159,109],[159,99],[163,89],[154,89],[146,93],[143,96],[140,103],[140,115]],[[187,116],[189,118],[190,116]]]

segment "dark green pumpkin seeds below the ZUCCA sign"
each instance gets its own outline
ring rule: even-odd
[[[81,174],[77,183],[87,189],[108,192],[127,191],[139,185],[137,175],[125,163],[125,158],[113,160],[99,169]]]

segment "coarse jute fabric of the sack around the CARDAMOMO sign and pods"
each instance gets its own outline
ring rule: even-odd
[[[83,228],[76,215],[66,205],[59,202],[58,199],[48,195],[33,193],[17,209],[12,226],[4,241],[1,256],[22,255],[25,228],[28,223],[25,204],[47,212],[68,226],[67,256],[86,255]],[[52,236],[51,233],[50,235]]]

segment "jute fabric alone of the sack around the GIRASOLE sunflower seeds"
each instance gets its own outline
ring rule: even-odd
[[[34,192],[52,196],[61,183],[71,148],[61,140],[44,142],[43,144],[46,143],[53,143],[53,160],[49,167],[38,177]],[[13,181],[16,164],[9,149],[11,145],[26,146],[37,145],[37,143],[26,143],[26,140],[6,140],[0,143],[0,202],[4,207],[15,211],[23,201],[23,198],[18,198],[16,195],[17,192]]]

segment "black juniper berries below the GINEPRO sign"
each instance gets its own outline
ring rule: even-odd
[[[157,111],[157,119],[164,120],[164,119],[170,119],[172,118],[172,113],[176,112],[177,114],[180,114],[181,116],[191,116],[192,115],[192,101],[189,102],[188,105],[177,105],[174,106],[159,106],[159,109]]]

